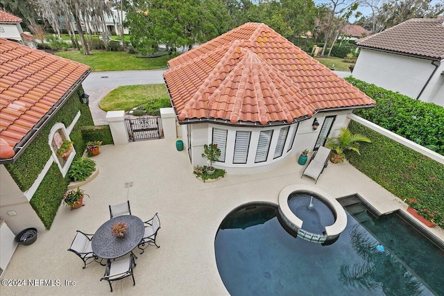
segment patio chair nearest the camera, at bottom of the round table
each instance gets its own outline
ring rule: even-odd
[[[110,284],[111,292],[112,292],[112,281],[118,281],[119,279],[123,279],[125,277],[133,277],[133,286],[136,285],[134,280],[133,269],[135,268],[136,263],[134,259],[133,253],[130,253],[129,256],[121,257],[119,259],[110,260],[106,262],[105,275],[100,279],[101,281],[108,281]]]

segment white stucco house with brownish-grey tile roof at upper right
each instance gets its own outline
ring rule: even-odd
[[[355,78],[444,106],[444,19],[409,19],[357,42]]]

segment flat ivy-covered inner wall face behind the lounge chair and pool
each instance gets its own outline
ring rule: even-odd
[[[420,207],[440,213],[435,223],[443,227],[444,165],[355,121],[349,128],[365,134],[372,143],[361,143],[361,155],[345,153],[348,161],[401,200],[409,203],[413,198]]]

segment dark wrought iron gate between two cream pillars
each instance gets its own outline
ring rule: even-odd
[[[130,141],[161,139],[164,137],[160,116],[140,116],[125,119]]]

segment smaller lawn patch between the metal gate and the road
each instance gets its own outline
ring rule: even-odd
[[[105,111],[131,110],[134,107],[168,97],[167,87],[158,85],[126,85],[117,87],[103,98],[99,107]]]

